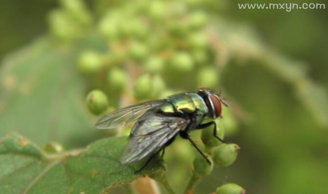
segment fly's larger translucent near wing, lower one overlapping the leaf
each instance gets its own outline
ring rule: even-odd
[[[159,151],[167,141],[184,130],[189,122],[183,118],[167,117],[152,111],[145,113],[132,128],[130,141],[120,158],[121,164],[141,160]]]

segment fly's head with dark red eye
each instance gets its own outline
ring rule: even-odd
[[[228,106],[219,94],[208,88],[200,88],[197,94],[204,99],[205,104],[209,109],[208,117],[210,118],[215,119],[220,117],[222,112],[222,104]]]

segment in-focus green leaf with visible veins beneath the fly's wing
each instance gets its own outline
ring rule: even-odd
[[[141,173],[145,161],[121,165],[126,137],[96,141],[86,149],[47,155],[25,138],[10,134],[0,141],[1,194],[99,194],[159,170],[155,158]]]

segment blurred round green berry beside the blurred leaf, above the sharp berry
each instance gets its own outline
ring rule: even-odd
[[[83,73],[96,73],[102,67],[102,57],[94,52],[82,53],[78,59],[78,69]]]

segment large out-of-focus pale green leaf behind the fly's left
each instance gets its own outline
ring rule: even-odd
[[[57,141],[66,147],[96,139],[85,84],[75,67],[80,51],[94,49],[98,42],[87,37],[58,45],[44,37],[5,58],[0,68],[0,136],[17,131],[38,144]]]

